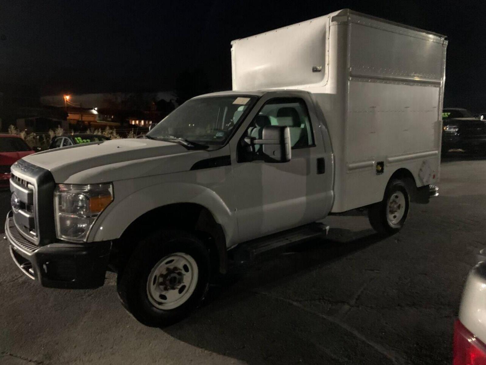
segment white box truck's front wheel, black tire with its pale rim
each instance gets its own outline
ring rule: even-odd
[[[192,234],[163,230],[143,239],[118,278],[121,303],[139,322],[165,327],[188,316],[208,291],[209,253]]]

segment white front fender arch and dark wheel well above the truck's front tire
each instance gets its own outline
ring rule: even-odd
[[[235,222],[222,197],[206,186],[160,183],[134,192],[128,181],[115,187],[115,200],[96,221],[89,240],[111,240],[114,251],[123,251],[126,256],[136,246],[133,242],[147,232],[178,227],[197,234],[208,246],[215,266],[224,272],[227,243],[237,234]]]

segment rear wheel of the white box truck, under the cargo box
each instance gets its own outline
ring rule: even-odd
[[[386,187],[382,201],[368,209],[368,219],[373,229],[381,235],[399,232],[408,216],[410,196],[405,183],[392,180]]]

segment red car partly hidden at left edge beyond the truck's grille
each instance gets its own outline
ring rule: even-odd
[[[35,152],[19,136],[0,134],[0,188],[10,186],[10,166],[22,157]]]

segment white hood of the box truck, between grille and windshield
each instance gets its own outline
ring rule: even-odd
[[[171,142],[116,139],[56,148],[24,160],[51,171],[56,183],[103,183],[187,171],[208,155]]]

